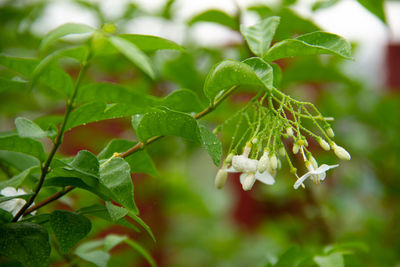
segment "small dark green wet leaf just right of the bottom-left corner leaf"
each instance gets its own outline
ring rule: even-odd
[[[83,215],[66,210],[56,210],[50,215],[50,225],[57,238],[62,254],[66,254],[92,228],[90,220]]]

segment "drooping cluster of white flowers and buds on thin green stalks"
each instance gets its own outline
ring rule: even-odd
[[[272,185],[275,183],[277,170],[281,168],[281,158],[287,160],[290,172],[296,177],[293,186],[295,189],[300,186],[304,188],[307,178],[311,178],[315,184],[320,184],[325,179],[326,172],[339,165],[319,166],[308,149],[304,133],[314,138],[322,149],[332,149],[338,158],[350,160],[350,154],[332,140],[334,132],[328,123],[331,118],[322,117],[310,103],[296,101],[276,89],[274,92],[261,98],[256,96],[245,108],[217,128],[220,130],[231,122],[235,128],[229,154],[215,178],[217,188],[224,186],[230,172],[241,173],[240,182],[245,191],[250,190],[257,180]],[[268,100],[267,106],[264,105],[265,100]],[[310,106],[316,114],[309,111]],[[306,128],[304,120],[312,121],[323,137]],[[249,141],[243,146],[244,140]],[[301,177],[297,175],[297,168],[293,166],[286,150],[291,142],[291,152],[294,155],[301,154],[300,157],[308,170]],[[242,153],[237,153],[241,147]]]

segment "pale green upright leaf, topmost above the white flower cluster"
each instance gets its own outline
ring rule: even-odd
[[[250,50],[259,57],[264,57],[271,45],[275,31],[279,26],[279,17],[269,17],[257,24],[246,27],[240,25],[240,32],[246,39]]]

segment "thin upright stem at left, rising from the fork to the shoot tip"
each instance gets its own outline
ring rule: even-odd
[[[83,75],[84,75],[84,73],[86,72],[86,69],[87,69],[87,67],[88,67],[87,60],[89,59],[89,56],[90,56],[90,55],[88,54],[88,56],[87,56],[85,62],[84,62],[83,65],[82,65],[82,68],[81,68],[81,70],[80,70],[80,72],[79,72],[78,78],[77,78],[76,83],[75,83],[74,90],[73,90],[73,92],[72,92],[72,96],[71,96],[71,98],[67,101],[66,110],[65,110],[65,115],[64,115],[64,120],[63,120],[63,122],[62,122],[62,124],[61,124],[60,130],[58,131],[56,140],[54,141],[54,144],[53,144],[53,147],[51,148],[50,154],[49,154],[49,156],[47,157],[47,160],[46,160],[46,162],[44,163],[44,166],[42,167],[42,172],[41,172],[41,174],[40,174],[39,182],[38,182],[38,184],[36,185],[35,191],[34,191],[33,195],[31,196],[31,198],[25,203],[25,205],[24,205],[24,206],[18,211],[18,213],[14,216],[14,218],[13,218],[13,220],[12,220],[13,222],[18,221],[18,219],[19,219],[21,216],[23,216],[24,214],[26,214],[25,211],[29,208],[30,205],[32,205],[33,201],[35,200],[35,198],[37,197],[37,195],[38,195],[39,192],[40,192],[40,189],[41,189],[42,186],[43,186],[44,179],[46,178],[46,175],[47,175],[47,173],[48,173],[48,171],[49,171],[49,167],[50,167],[51,161],[53,160],[53,158],[54,158],[54,156],[55,156],[55,154],[56,154],[58,148],[59,148],[60,145],[62,144],[62,140],[63,140],[63,136],[64,136],[65,127],[66,127],[66,125],[67,125],[69,115],[71,114],[71,111],[73,110],[73,107],[74,107],[73,105],[74,105],[75,97],[76,97],[76,95],[77,95],[77,93],[78,93],[78,89],[79,89],[79,86],[80,86],[80,84],[81,84],[82,77],[83,77]]]

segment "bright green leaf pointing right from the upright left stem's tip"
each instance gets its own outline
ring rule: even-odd
[[[120,34],[121,37],[131,43],[133,43],[138,49],[145,52],[154,52],[162,49],[180,50],[183,51],[183,47],[174,43],[170,40],[151,35],[142,34]]]

